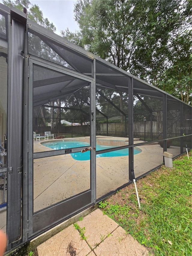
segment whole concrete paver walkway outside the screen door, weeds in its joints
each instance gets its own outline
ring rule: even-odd
[[[76,222],[86,240],[70,225],[37,247],[38,256],[147,256],[148,251],[115,221],[96,209]]]

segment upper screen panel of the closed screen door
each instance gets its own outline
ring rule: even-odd
[[[90,83],[38,65],[33,73],[34,152],[64,149],[48,145],[50,140],[76,138],[90,145]],[[73,147],[80,146],[65,148]]]

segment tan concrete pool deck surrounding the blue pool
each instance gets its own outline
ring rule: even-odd
[[[101,136],[99,137],[101,138]],[[102,138],[105,140],[113,138],[113,140],[128,141],[128,138],[104,137]],[[49,142],[53,142],[53,140],[49,140]],[[137,143],[143,141],[137,139],[134,142],[137,145]],[[157,143],[138,146],[138,148],[142,152],[134,155],[136,177],[163,163],[163,149]],[[40,142],[34,142],[34,152],[51,150]],[[180,148],[178,149],[178,147],[170,147],[170,150],[174,153],[173,155],[179,155],[180,153]],[[128,182],[128,156],[96,158],[97,199]],[[89,160],[77,161],[70,154],[34,160],[34,212],[87,189],[90,189]]]

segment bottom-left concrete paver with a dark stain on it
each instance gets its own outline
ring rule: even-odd
[[[73,225],[70,225],[39,245],[37,251],[38,256],[85,256],[91,252],[91,248],[81,239]]]

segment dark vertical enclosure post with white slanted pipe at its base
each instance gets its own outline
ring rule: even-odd
[[[128,84],[128,135],[129,135],[129,180],[133,180],[132,170],[134,170],[134,140],[133,140],[133,77]]]

